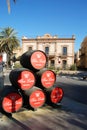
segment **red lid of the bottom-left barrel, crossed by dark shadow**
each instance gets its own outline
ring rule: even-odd
[[[9,93],[3,98],[2,108],[7,113],[13,113],[18,111],[23,104],[23,99],[18,93]]]

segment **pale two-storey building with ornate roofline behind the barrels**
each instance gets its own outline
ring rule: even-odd
[[[42,50],[46,53],[48,66],[66,69],[74,64],[75,36],[59,38],[45,34],[36,38],[22,37],[22,54],[29,50]]]

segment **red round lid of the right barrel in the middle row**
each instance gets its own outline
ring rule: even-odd
[[[41,83],[45,88],[50,88],[56,81],[55,73],[51,70],[46,70],[41,77]]]

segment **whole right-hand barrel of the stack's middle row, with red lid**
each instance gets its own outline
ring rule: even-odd
[[[36,72],[36,86],[44,89],[51,88],[56,81],[56,74],[49,69],[42,69]]]

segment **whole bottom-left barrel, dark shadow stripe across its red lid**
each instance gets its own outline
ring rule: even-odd
[[[0,92],[1,109],[6,113],[19,111],[23,105],[22,95],[13,86],[5,86]]]

